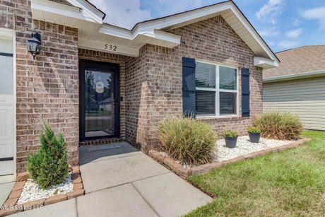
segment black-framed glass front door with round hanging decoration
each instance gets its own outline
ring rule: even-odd
[[[119,66],[80,61],[80,139],[119,137]]]

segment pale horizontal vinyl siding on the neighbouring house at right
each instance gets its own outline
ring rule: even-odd
[[[305,129],[325,130],[325,77],[264,83],[263,110],[293,112]]]

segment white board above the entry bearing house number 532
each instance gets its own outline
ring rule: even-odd
[[[111,47],[112,46],[112,47]],[[116,47],[114,47],[116,46]],[[138,49],[134,47],[126,47],[123,45],[115,45],[110,42],[101,42],[96,40],[89,40],[83,37],[78,38],[78,48],[92,49],[100,52],[107,52],[112,54],[121,54],[130,57],[138,57]]]

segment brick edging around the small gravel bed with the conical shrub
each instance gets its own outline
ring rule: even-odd
[[[85,194],[85,189],[83,189],[83,180],[81,179],[81,173],[79,166],[69,168],[71,172],[71,179],[73,180],[73,192],[67,192],[66,194],[57,194],[52,197],[47,197],[43,199],[37,199],[35,201],[28,201],[24,204],[17,204],[26,180],[29,178],[28,172],[22,172],[17,175],[16,184],[13,186],[8,199],[4,202],[4,206],[8,206],[9,209],[0,209],[0,216],[8,216],[13,213],[18,213],[21,211],[27,211],[30,209],[37,209],[40,206],[46,206],[49,204],[55,204],[60,201],[65,201],[67,199],[73,199]]]

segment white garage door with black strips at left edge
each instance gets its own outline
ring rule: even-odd
[[[0,176],[13,174],[13,41],[0,37]]]

